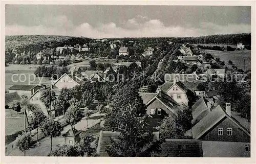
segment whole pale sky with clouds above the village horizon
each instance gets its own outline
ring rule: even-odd
[[[6,5],[6,35],[190,37],[251,32],[249,6]]]

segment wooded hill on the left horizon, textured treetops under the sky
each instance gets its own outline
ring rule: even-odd
[[[46,48],[56,48],[63,45],[83,45],[89,42],[90,38],[72,37],[72,36],[55,36],[55,35],[15,35],[6,36],[6,49],[17,51],[38,52]]]

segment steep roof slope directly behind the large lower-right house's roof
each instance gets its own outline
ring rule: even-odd
[[[191,121],[192,125],[195,125],[200,120],[204,118],[209,112],[210,109],[207,107],[207,100],[201,97],[193,106],[192,106],[192,116],[193,120]]]

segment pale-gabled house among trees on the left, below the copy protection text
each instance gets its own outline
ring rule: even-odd
[[[56,86],[59,89],[62,88],[73,88],[76,85],[81,85],[83,84],[85,81],[82,78],[79,78],[77,76],[72,76],[72,75],[68,75],[68,74],[63,74],[60,78],[58,78],[53,85]]]

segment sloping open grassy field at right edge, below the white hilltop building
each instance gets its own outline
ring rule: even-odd
[[[221,60],[228,62],[231,60],[234,65],[240,69],[251,69],[251,51],[214,51],[214,50],[205,50],[207,53],[212,54],[216,57],[219,57]]]

